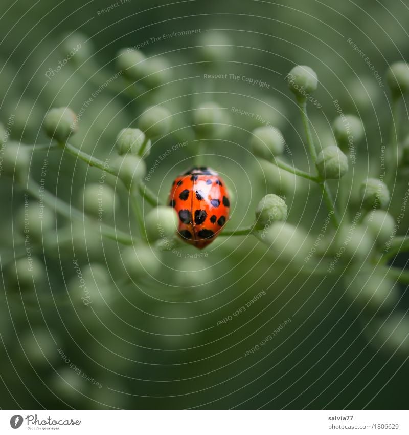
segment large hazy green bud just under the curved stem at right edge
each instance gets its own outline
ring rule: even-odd
[[[399,300],[399,295],[395,283],[385,275],[380,268],[353,267],[344,278],[347,295],[371,312],[379,308],[389,311]]]

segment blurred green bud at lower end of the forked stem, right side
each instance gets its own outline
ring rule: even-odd
[[[356,226],[351,225],[340,228],[334,243],[334,250],[336,249],[340,256],[345,257],[347,262],[352,258],[367,258],[374,247],[375,241],[370,231],[357,224]]]

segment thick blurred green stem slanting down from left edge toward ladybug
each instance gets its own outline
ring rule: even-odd
[[[50,206],[50,208],[54,209],[57,213],[65,216],[67,219],[75,218],[80,220],[81,222],[88,222],[90,225],[95,226],[95,221],[87,218],[83,213],[79,210],[75,209],[71,205],[64,202],[62,199],[54,196],[50,192],[41,189],[40,195],[40,186],[33,180],[29,179],[27,190],[31,195],[39,200],[42,200],[45,204]],[[100,224],[101,233],[103,236],[108,239],[116,240],[118,243],[125,245],[132,245],[134,243],[138,243],[137,239],[134,239],[128,233],[117,230],[106,224]]]

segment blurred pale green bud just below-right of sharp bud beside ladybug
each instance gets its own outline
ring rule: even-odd
[[[311,245],[303,230],[287,222],[274,222],[263,239],[274,258],[284,263],[304,261]]]

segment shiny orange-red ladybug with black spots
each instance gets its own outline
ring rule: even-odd
[[[193,167],[176,177],[169,205],[179,216],[179,236],[203,249],[229,219],[230,200],[224,181],[212,169]]]

